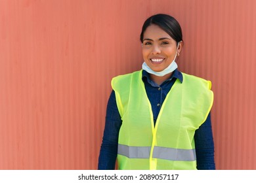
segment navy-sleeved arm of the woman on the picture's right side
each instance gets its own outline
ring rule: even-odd
[[[215,170],[211,113],[195,133],[196,162],[198,170]]]

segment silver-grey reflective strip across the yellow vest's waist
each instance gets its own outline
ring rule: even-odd
[[[126,146],[118,144],[117,154],[127,158],[150,158],[150,146]],[[196,150],[154,147],[153,158],[168,159],[172,161],[196,161]]]

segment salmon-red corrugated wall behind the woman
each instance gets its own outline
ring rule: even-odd
[[[179,68],[213,83],[217,169],[256,169],[256,1],[0,0],[0,169],[96,169],[113,76],[171,14]]]

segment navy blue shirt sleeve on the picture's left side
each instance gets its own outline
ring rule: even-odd
[[[114,90],[108,99],[106,109],[106,121],[104,135],[98,157],[99,170],[114,170],[117,157],[117,144],[119,129],[121,127],[121,117],[116,105],[116,95]]]

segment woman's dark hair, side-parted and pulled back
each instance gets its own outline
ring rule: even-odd
[[[158,25],[161,29],[163,29],[163,31],[169,34],[171,38],[177,42],[177,44],[178,42],[182,41],[182,31],[179,22],[168,14],[155,14],[150,16],[150,18],[144,22],[142,31],[140,33],[141,42],[143,42],[144,31],[146,31],[146,28],[152,24]]]

